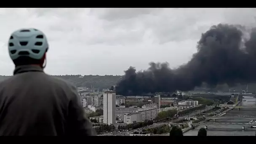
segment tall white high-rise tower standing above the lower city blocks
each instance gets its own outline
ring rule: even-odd
[[[115,92],[107,91],[103,94],[103,123],[115,123]]]

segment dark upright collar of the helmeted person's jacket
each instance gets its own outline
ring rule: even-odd
[[[43,69],[37,65],[22,65],[14,69],[13,75],[24,73],[24,72],[43,72]]]

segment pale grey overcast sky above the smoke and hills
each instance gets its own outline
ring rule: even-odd
[[[36,28],[49,41],[50,75],[123,75],[129,66],[186,63],[203,32],[219,23],[256,25],[256,10],[219,8],[0,8],[0,75],[12,75],[11,32]]]

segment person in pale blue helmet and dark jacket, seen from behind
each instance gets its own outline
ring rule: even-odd
[[[95,135],[75,86],[43,72],[48,51],[43,32],[13,32],[8,50],[15,70],[0,83],[0,136]]]

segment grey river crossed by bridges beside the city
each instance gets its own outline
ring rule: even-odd
[[[246,101],[242,101],[238,106],[256,107],[256,98],[250,96],[243,96]],[[230,110],[223,117],[236,117],[237,115],[249,115],[254,116],[256,119],[256,108],[240,108]],[[237,123],[248,123],[250,120],[247,119],[219,119],[216,122],[237,122]],[[210,121],[214,122],[214,121]],[[187,131],[184,136],[197,136],[198,130],[204,126],[198,126],[197,128]],[[207,129],[207,136],[255,136],[256,128],[248,128],[245,126],[245,130],[242,130],[241,125],[209,125]]]

